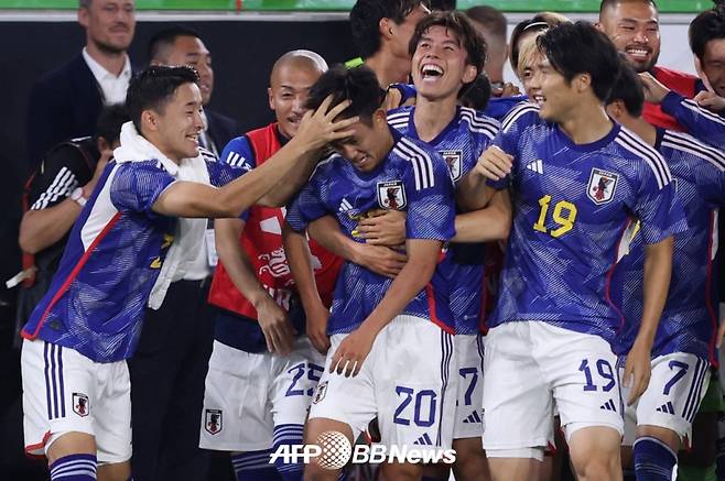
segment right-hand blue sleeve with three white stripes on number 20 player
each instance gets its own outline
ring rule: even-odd
[[[447,241],[455,236],[453,181],[445,161],[430,151],[405,179],[409,194],[405,238]]]

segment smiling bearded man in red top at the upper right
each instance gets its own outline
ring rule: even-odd
[[[597,26],[625,54],[637,73],[649,72],[667,87],[689,98],[704,88],[697,77],[657,66],[660,56],[660,24],[654,1],[603,0]],[[642,117],[657,127],[683,130],[675,119],[649,102],[645,103]]]

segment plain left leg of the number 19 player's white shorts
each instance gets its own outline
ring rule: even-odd
[[[508,323],[486,336],[484,448],[489,457],[498,450],[507,451],[498,456],[505,458],[511,457],[509,450],[532,455],[529,449],[542,450],[553,437],[551,391],[532,353],[530,325]]]

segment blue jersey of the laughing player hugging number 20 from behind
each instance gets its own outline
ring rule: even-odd
[[[415,130],[414,107],[388,112],[390,125],[403,135],[420,140]],[[428,144],[446,162],[454,183],[461,181],[490,145],[500,124],[474,109],[458,107],[456,116]],[[456,334],[476,334],[479,328],[481,291],[484,286],[484,243],[451,243],[440,270],[448,281],[451,311]]]

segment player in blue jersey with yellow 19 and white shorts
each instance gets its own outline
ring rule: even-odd
[[[530,479],[555,401],[577,478],[617,480],[623,406],[610,342],[620,316],[610,271],[634,214],[648,245],[646,304],[624,371],[631,404],[647,387],[672,234],[685,222],[662,157],[606,114],[620,65],[609,40],[577,22],[538,43],[541,108],[513,110],[473,171],[489,182],[484,196],[510,187],[515,212],[486,339],[484,448],[495,480]]]

